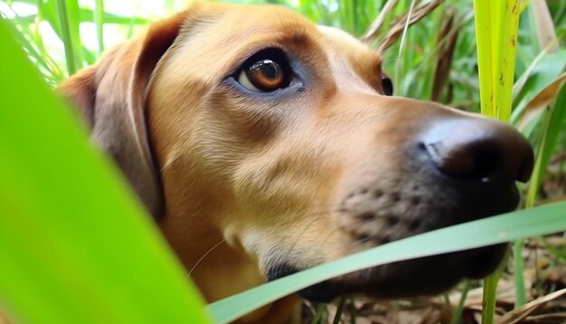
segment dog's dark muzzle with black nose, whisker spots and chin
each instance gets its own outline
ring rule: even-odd
[[[338,227],[353,241],[372,247],[509,212],[519,202],[514,182],[527,181],[532,169],[533,149],[515,129],[491,119],[434,119],[407,141],[404,172],[394,181],[376,176],[344,195]],[[493,272],[505,248],[500,244],[385,264],[299,293],[319,301],[356,293],[380,298],[436,294],[462,278]],[[298,270],[293,264],[273,264],[268,278]]]

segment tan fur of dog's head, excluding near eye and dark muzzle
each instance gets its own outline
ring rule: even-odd
[[[266,47],[311,71],[296,97],[272,103],[222,84]],[[282,7],[202,4],[119,45],[61,91],[213,301],[265,282],[273,259],[308,267],[366,248],[341,230],[355,225],[337,202],[370,174],[399,186],[400,143],[423,120],[459,116],[383,96],[381,61]],[[244,320],[282,322],[296,301]]]

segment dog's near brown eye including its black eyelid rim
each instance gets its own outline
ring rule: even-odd
[[[251,91],[276,91],[288,86],[288,71],[285,53],[268,49],[256,53],[244,63],[237,81]]]

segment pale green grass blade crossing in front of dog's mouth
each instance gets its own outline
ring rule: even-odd
[[[502,214],[423,233],[362,253],[355,253],[341,260],[318,265],[277,281],[271,281],[250,291],[216,301],[208,308],[217,323],[228,323],[289,293],[345,273],[384,263],[555,233],[564,229],[566,229],[566,202]]]

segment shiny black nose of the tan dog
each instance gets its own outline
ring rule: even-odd
[[[533,148],[526,138],[491,119],[435,120],[420,147],[452,178],[526,182],[533,171]]]

